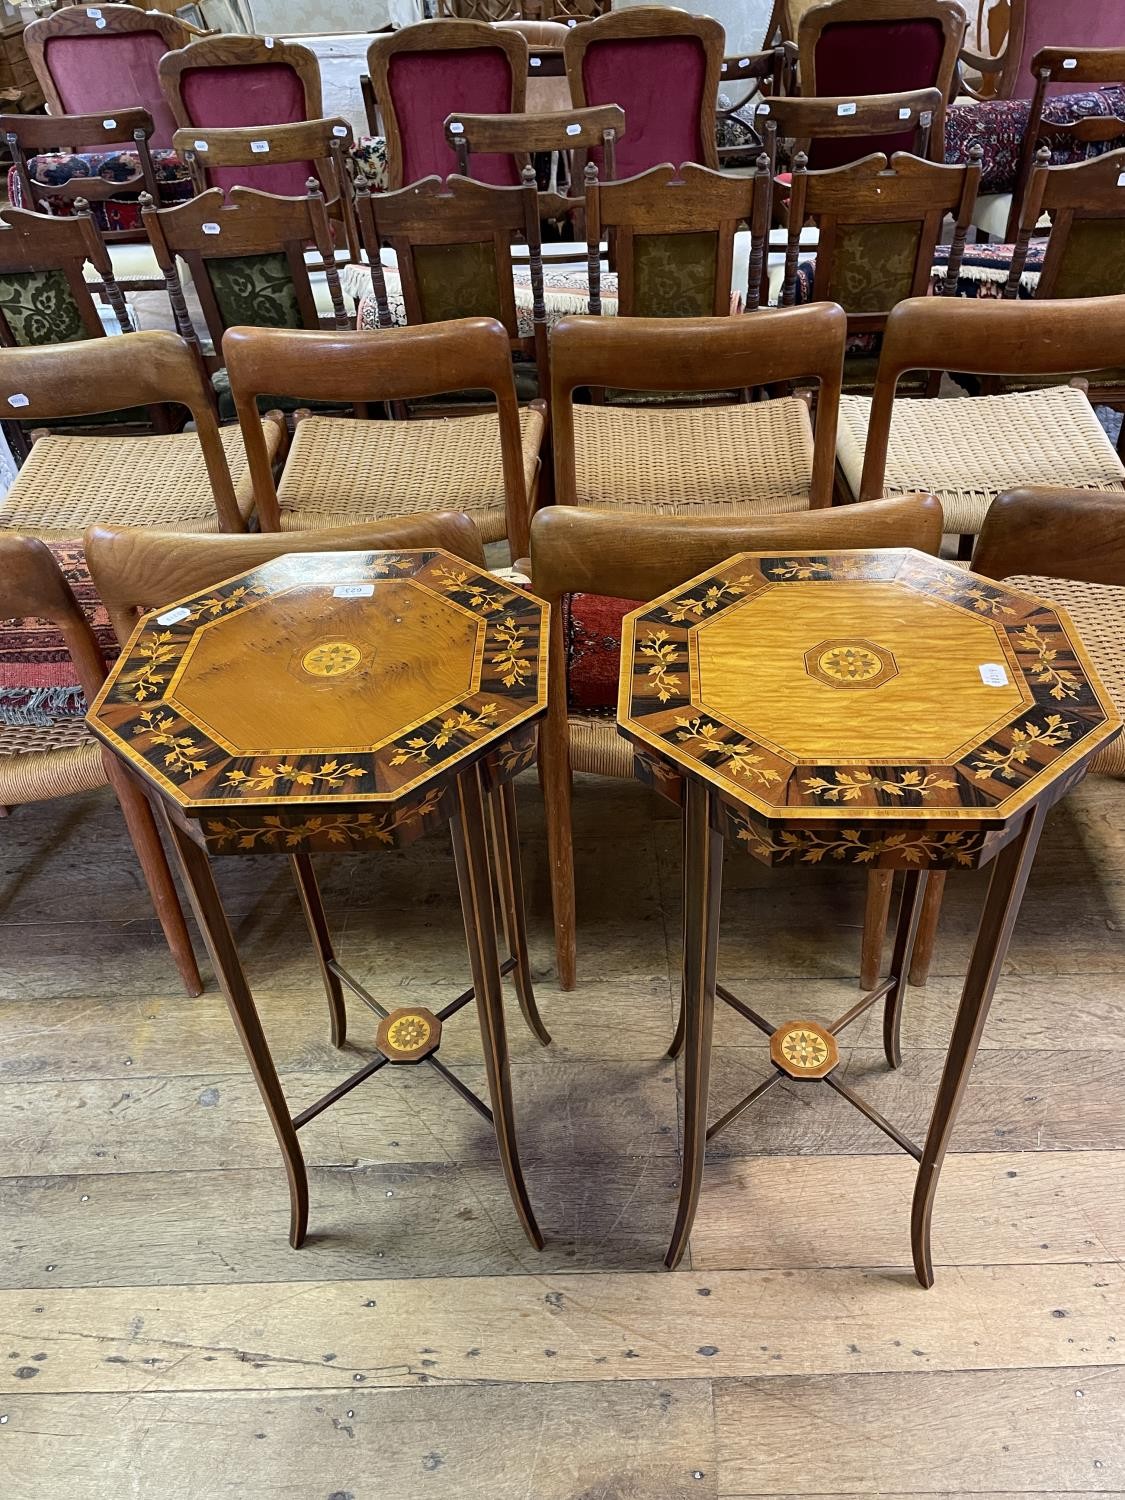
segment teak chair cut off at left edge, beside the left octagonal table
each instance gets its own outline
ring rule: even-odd
[[[44,542],[0,534],[0,616],[50,621],[66,644],[86,700],[93,702],[105,681],[105,662],[74,591]],[[152,810],[120,760],[102,750],[80,717],[56,718],[42,728],[0,728],[0,804],[4,807],[88,792],[106,782],[122,806],[183,987],[189,994],[200,994],[202,982],[192,940]]]

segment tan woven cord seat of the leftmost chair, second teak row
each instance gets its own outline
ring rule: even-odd
[[[264,423],[270,453],[280,432]],[[220,429],[243,518],[254,507],[238,428]],[[194,432],[147,438],[40,438],[0,501],[0,526],[74,537],[90,525],[218,531],[212,483]]]

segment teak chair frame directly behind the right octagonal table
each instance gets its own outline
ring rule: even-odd
[[[936,554],[940,540],[942,507],[933,495],[792,516],[650,518],[568,506],[555,506],[536,516],[531,524],[531,586],[550,603],[548,717],[538,736],[538,765],[548,822],[555,951],[564,990],[574,988],[578,966],[564,597],[582,592],[656,598],[736,552],[777,548],[788,555],[790,550],[820,548],[912,546]],[[872,872],[862,956],[868,988],[878,978],[890,897],[891,872]],[[672,1050],[678,1050],[675,1042]]]

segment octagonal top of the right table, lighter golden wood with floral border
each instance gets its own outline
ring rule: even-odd
[[[776,826],[1004,826],[1120,728],[1065,610],[910,549],[734,556],[621,662],[621,732]]]

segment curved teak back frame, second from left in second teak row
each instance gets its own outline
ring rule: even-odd
[[[222,351],[262,531],[280,530],[280,508],[258,411],[260,396],[405,402],[452,390],[488,390],[496,399],[507,537],[513,556],[526,550],[531,506],[524,480],[512,350],[507,330],[495,318],[384,328],[376,338],[357,332],[228,328]],[[404,440],[408,440],[405,426]]]

